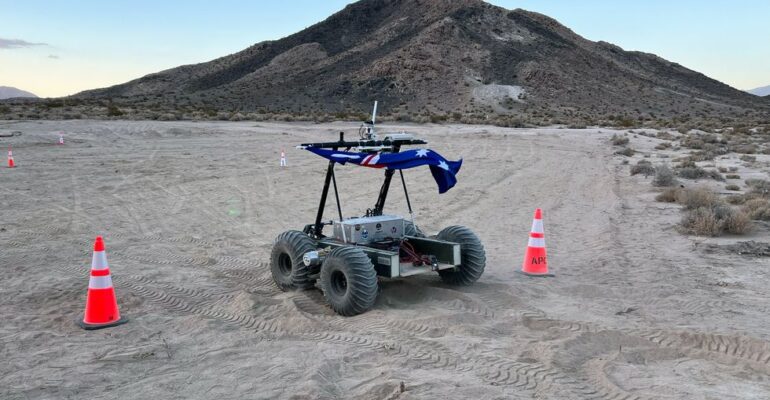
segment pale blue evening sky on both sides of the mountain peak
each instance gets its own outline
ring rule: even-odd
[[[41,97],[205,62],[298,32],[351,0],[0,0],[0,86]],[[770,85],[770,0],[492,0],[735,88]]]

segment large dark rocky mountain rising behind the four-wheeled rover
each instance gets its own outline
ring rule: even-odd
[[[361,0],[280,40],[76,99],[121,107],[391,115],[680,118],[767,101],[653,54],[481,0]]]

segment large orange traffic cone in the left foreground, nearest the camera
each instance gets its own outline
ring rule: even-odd
[[[83,320],[78,321],[83,329],[100,329],[120,325],[126,318],[120,317],[115,288],[112,287],[110,267],[104,252],[104,240],[96,237],[94,257],[91,261],[91,279],[88,281],[88,297]]]

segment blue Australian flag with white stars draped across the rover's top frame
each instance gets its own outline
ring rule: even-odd
[[[362,167],[409,169],[421,165],[430,166],[430,173],[438,185],[438,192],[444,193],[457,183],[457,172],[463,165],[463,160],[448,161],[441,154],[429,149],[407,150],[400,153],[352,153],[306,147],[308,151],[318,154],[339,164],[353,163]]]

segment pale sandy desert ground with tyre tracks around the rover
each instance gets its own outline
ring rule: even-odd
[[[313,220],[325,168],[292,146],[356,128],[0,124],[22,132],[0,138],[19,166],[0,168],[0,398],[770,397],[770,260],[705,251],[746,238],[677,233],[678,206],[629,176],[609,130],[409,126],[465,160],[445,195],[427,168],[407,180],[423,230],[481,237],[481,280],[380,280],[353,318],[317,289],[280,292],[271,242]],[[339,169],[347,216],[373,206],[381,173]],[[389,200],[405,213],[400,190]],[[536,207],[555,278],[515,273]],[[74,321],[97,234],[130,321],[87,332]]]

